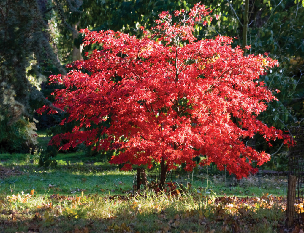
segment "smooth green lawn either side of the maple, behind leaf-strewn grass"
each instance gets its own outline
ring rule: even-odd
[[[56,168],[38,166],[37,155],[0,155],[0,165],[22,172],[21,176],[10,176],[0,181],[0,191],[18,193],[35,189],[42,195],[46,192],[60,195],[86,194],[112,195],[130,193],[134,171],[119,171],[117,166],[106,162],[94,162],[94,157],[82,157],[81,153],[59,154]],[[84,159],[85,162],[82,161]],[[229,180],[229,181],[227,181]],[[194,174],[191,176],[193,188],[203,195],[216,193],[217,196],[275,196],[287,195],[287,177],[250,176],[242,180],[223,175]],[[81,190],[81,191],[79,191]]]

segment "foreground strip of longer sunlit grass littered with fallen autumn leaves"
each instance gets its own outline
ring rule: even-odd
[[[3,232],[280,232],[286,198],[99,195],[1,198]]]

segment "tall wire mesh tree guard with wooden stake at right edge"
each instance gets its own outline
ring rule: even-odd
[[[292,127],[289,148],[286,225],[304,223],[304,127]]]

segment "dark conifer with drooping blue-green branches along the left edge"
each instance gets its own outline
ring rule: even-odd
[[[51,105],[42,92],[50,73],[64,73],[50,44],[48,19],[61,5],[47,0],[0,2],[0,151],[36,145],[35,109]]]

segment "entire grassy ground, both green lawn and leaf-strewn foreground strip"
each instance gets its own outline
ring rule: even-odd
[[[285,221],[286,177],[235,180],[202,169],[188,190],[134,193],[133,171],[80,152],[56,159],[46,169],[39,151],[0,154],[1,232],[264,233]]]

